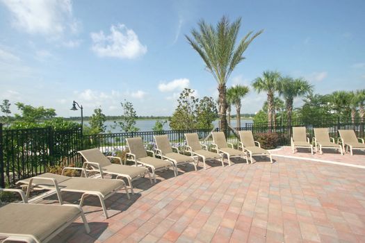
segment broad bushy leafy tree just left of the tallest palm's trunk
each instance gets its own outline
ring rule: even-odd
[[[213,128],[217,109],[211,97],[199,100],[193,96],[193,90],[186,88],[177,102],[178,106],[169,118],[173,130]]]

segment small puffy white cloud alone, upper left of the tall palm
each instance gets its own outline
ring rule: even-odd
[[[147,47],[140,43],[136,33],[124,24],[112,25],[110,35],[100,31],[90,33],[90,36],[92,51],[100,57],[133,59],[147,52]]]

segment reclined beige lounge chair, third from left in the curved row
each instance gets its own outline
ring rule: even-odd
[[[134,194],[132,181],[145,176],[145,174],[148,174],[149,181],[152,184],[152,178],[147,168],[123,165],[121,158],[104,156],[99,149],[86,149],[78,151],[78,153],[86,160],[83,162],[83,168],[86,171],[98,172],[102,178],[104,174],[115,175],[117,176],[116,178],[126,178],[132,194]],[[116,158],[119,160],[120,165],[112,164],[108,158]]]

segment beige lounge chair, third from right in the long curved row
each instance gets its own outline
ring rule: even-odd
[[[197,156],[197,161],[199,161],[199,158],[202,158],[204,169],[206,169],[206,160],[220,160],[222,161],[222,167],[225,166],[223,163],[223,156],[219,153],[208,151],[208,147],[206,145],[200,144],[197,133],[185,133],[185,139],[188,144],[185,146],[186,151],[191,153],[193,156]]]

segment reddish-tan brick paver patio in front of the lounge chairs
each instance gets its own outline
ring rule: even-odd
[[[106,201],[109,219],[86,201],[89,235],[76,221],[51,242],[365,242],[365,169],[274,159],[142,178]]]

